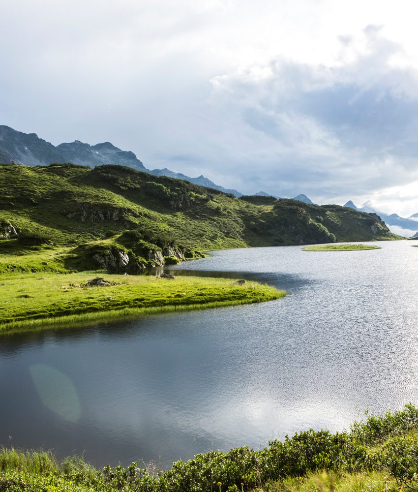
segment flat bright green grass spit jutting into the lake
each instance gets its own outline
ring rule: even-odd
[[[87,287],[97,275],[111,283]],[[0,276],[0,332],[144,313],[250,304],[286,294],[269,285],[228,278],[42,272]]]

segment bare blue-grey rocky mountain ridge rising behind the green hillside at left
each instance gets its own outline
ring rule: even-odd
[[[224,193],[232,193],[240,197],[242,193],[236,189],[224,188],[213,183],[205,176],[190,178],[181,173],[175,173],[170,169],[147,169],[144,164],[131,151],[122,151],[110,142],[89,145],[75,140],[71,143],[62,143],[54,146],[50,142],[39,138],[36,133],[23,133],[10,126],[0,125],[0,162],[10,163],[15,161],[27,166],[48,166],[52,163],[89,165],[91,167],[102,164],[121,164],[132,167],[137,171],[143,171],[155,176],[168,176],[199,186],[214,188]]]

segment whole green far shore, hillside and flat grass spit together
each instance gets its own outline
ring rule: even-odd
[[[0,165],[0,332],[277,299],[254,282],[133,276],[208,249],[384,239],[397,236],[377,215],[337,205],[236,198],[119,165]],[[92,271],[110,285],[86,287]]]

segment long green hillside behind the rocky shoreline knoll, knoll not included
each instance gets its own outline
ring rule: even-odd
[[[116,212],[118,218],[91,220],[97,212]],[[302,244],[325,239],[327,232],[337,241],[397,239],[377,216],[345,207],[237,199],[121,166],[0,166],[0,219],[65,245],[126,229],[165,235],[193,249]]]

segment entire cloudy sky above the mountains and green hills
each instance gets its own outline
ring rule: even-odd
[[[0,0],[0,124],[243,193],[418,212],[418,3]]]

